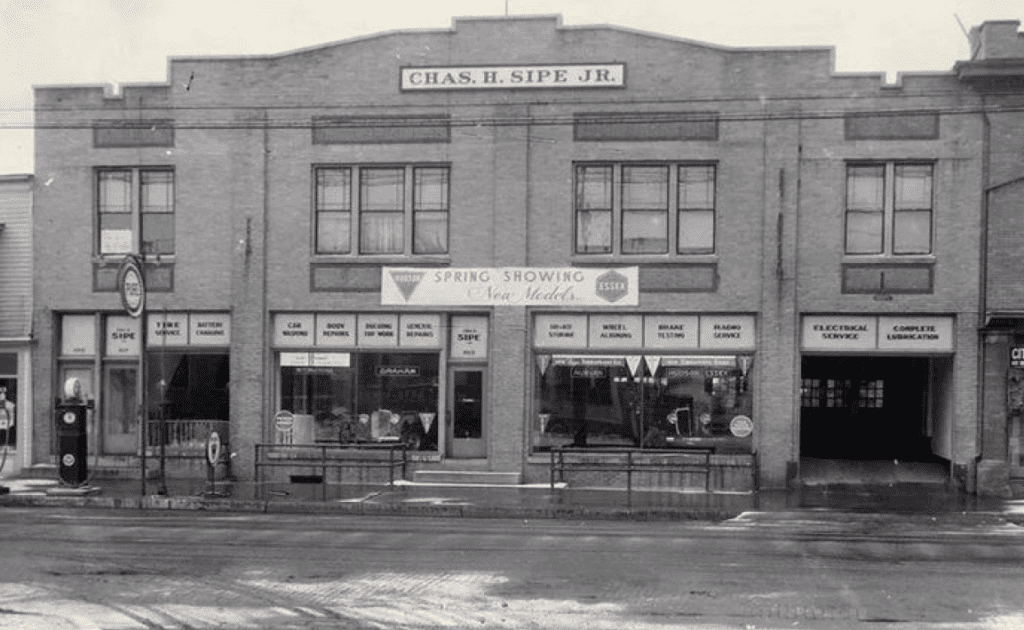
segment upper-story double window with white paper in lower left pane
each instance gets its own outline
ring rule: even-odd
[[[97,171],[96,214],[100,255],[173,254],[174,171]]]

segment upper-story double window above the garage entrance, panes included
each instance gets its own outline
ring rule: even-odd
[[[847,254],[932,253],[931,164],[850,164]]]

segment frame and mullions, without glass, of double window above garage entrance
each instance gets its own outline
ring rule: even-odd
[[[843,202],[843,255],[850,258],[913,258],[931,257],[935,255],[935,161],[929,160],[864,160],[850,161],[846,163],[844,171],[844,202]],[[897,173],[903,167],[927,167],[928,168],[928,207],[927,208],[897,208]],[[866,210],[851,207],[851,173],[858,168],[882,169],[882,207],[878,210]],[[898,249],[897,218],[900,213],[928,213],[928,247],[927,251],[901,251]],[[850,217],[853,214],[881,214],[881,247],[878,251],[861,252],[850,250]]]

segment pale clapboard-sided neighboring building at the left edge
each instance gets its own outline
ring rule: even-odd
[[[32,175],[0,175],[0,476],[31,465]]]

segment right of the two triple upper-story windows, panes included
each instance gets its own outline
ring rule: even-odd
[[[575,169],[577,254],[712,254],[715,165]]]

